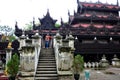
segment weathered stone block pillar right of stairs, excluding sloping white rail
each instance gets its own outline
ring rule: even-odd
[[[73,80],[72,61],[73,51],[69,47],[69,41],[63,40],[62,46],[58,49],[58,75],[59,80]]]

